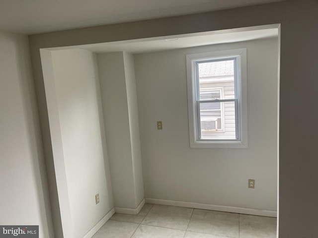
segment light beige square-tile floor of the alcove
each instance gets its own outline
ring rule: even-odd
[[[276,218],[145,204],[115,213],[93,238],[276,238]]]

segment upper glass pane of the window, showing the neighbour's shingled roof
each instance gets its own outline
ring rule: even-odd
[[[235,60],[198,62],[199,100],[234,99]]]

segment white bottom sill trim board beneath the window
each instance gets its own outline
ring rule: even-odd
[[[195,141],[190,142],[191,148],[232,148],[232,149],[246,149],[247,143],[242,141]]]

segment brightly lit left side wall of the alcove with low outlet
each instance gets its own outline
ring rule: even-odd
[[[84,50],[53,51],[52,62],[58,112],[49,116],[59,115],[73,237],[81,238],[113,208],[97,63]]]

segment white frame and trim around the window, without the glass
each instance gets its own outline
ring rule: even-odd
[[[199,139],[198,109],[197,109],[197,72],[196,63],[206,60],[236,59],[237,94],[237,139],[233,140],[202,140]],[[191,148],[247,148],[247,70],[246,48],[198,53],[186,56],[187,86],[188,86],[188,112],[189,112],[189,139]]]

